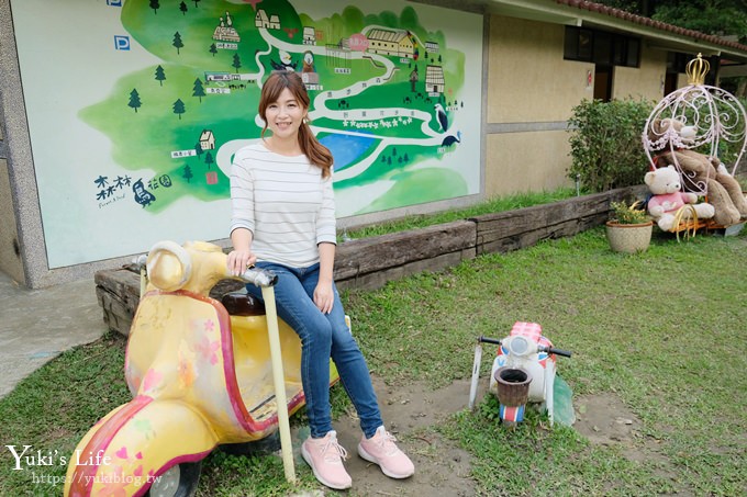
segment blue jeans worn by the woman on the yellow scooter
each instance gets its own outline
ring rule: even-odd
[[[368,365],[358,343],[345,324],[345,310],[337,287],[332,312],[323,314],[314,305],[314,289],[319,282],[319,263],[309,268],[289,268],[271,262],[257,262],[278,275],[275,300],[278,316],[301,339],[301,383],[306,397],[306,415],[311,436],[324,437],[332,428],[330,405],[330,358],[335,362],[339,379],[360,418],[360,429],[367,438],[383,425],[379,404],[371,384]],[[247,284],[249,294],[261,300],[261,290]]]

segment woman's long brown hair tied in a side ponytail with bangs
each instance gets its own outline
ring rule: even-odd
[[[290,90],[304,111],[309,110],[311,100],[301,77],[291,71],[272,71],[261,87],[261,97],[259,98],[259,116],[265,121],[265,127],[261,131],[263,138],[267,131],[267,116],[265,114],[267,108],[278,101],[280,93],[286,88]],[[309,158],[309,161],[322,169],[322,178],[328,178],[332,174],[332,163],[334,161],[332,153],[316,139],[306,120],[299,127],[299,145],[303,155]]]

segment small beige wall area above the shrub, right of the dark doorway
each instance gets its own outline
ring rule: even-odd
[[[640,67],[615,67],[612,97],[643,98],[658,102],[664,98],[664,80],[667,72],[667,53],[644,48]]]

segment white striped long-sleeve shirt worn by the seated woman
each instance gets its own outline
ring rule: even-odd
[[[319,262],[319,244],[336,242],[332,178],[323,179],[306,156],[281,156],[261,143],[239,149],[231,200],[231,231],[252,231],[258,260],[308,268]]]

